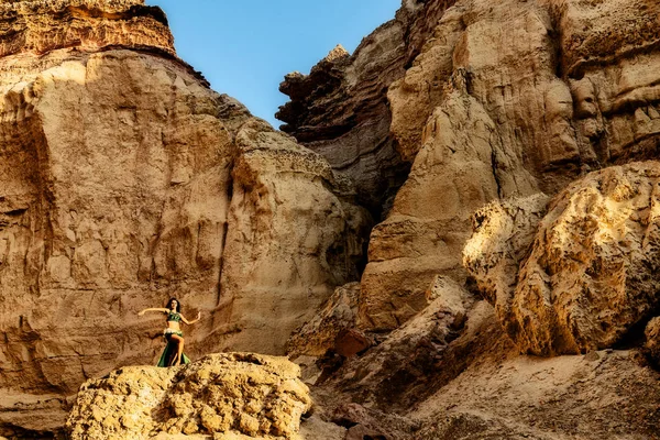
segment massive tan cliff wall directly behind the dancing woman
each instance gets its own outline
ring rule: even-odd
[[[360,276],[369,215],[351,184],[208,89],[158,9],[6,1],[0,14],[7,398],[151,363],[165,322],[135,314],[170,296],[202,312],[193,356],[283,354]]]

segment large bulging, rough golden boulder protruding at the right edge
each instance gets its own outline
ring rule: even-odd
[[[468,267],[522,350],[609,348],[657,314],[659,184],[657,162],[614,166],[559,194],[538,229],[525,212],[476,215],[486,220],[465,249]]]

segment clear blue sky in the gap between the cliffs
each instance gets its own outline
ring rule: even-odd
[[[180,58],[211,87],[275,128],[284,75],[309,69],[337,44],[353,52],[394,18],[400,0],[147,0],[169,20]]]

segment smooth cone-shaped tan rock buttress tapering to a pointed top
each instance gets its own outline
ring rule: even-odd
[[[372,232],[362,277],[361,327],[391,330],[425,306],[438,274],[462,282],[470,216],[516,182],[493,174],[504,156],[495,123],[474,98],[455,92],[429,120],[426,143],[388,218]],[[508,187],[507,187],[508,188]]]

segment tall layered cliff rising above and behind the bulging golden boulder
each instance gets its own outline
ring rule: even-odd
[[[659,8],[642,0],[405,1],[362,50],[319,65],[333,66],[326,70],[336,86],[312,87],[317,70],[298,78],[299,88],[285,82],[297,94],[289,108],[299,109],[292,133],[320,133],[332,111],[346,118],[344,103],[365,97],[345,79],[370,66],[359,63],[364,47],[386,30],[406,30],[392,58],[397,69],[385,69],[383,84],[386,139],[411,169],[372,233],[363,329],[388,331],[411,318],[437,275],[464,282],[460,254],[481,206],[554,195],[590,170],[654,157],[659,37],[650,30]],[[333,136],[323,154],[351,148]]]

